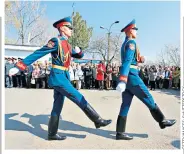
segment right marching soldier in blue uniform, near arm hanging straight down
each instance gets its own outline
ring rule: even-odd
[[[125,133],[125,128],[128,111],[134,95],[149,108],[153,118],[159,123],[161,129],[172,126],[176,122],[176,120],[165,119],[165,116],[139,77],[138,63],[143,63],[144,57],[140,56],[139,49],[134,40],[137,30],[135,20],[132,20],[121,30],[121,32],[125,32],[126,38],[121,48],[122,65],[120,68],[120,82],[116,87],[116,90],[122,93],[122,105],[116,125],[117,140],[133,139],[133,137]]]

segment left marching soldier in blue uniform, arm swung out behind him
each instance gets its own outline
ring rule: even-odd
[[[64,140],[65,136],[57,134],[59,116],[61,114],[65,96],[78,105],[89,119],[94,122],[96,128],[107,126],[111,120],[102,119],[99,114],[90,106],[84,96],[79,93],[70,83],[69,65],[71,57],[82,58],[83,52],[79,47],[73,50],[68,43],[72,35],[72,20],[70,17],[63,18],[53,24],[60,35],[48,41],[48,44],[22,61],[16,63],[16,67],[10,70],[10,75],[16,74],[19,70],[25,70],[27,66],[37,59],[51,53],[52,69],[49,76],[49,86],[54,89],[54,103],[51,117],[48,124],[48,140]]]

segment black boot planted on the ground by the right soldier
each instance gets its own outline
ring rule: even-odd
[[[116,124],[116,140],[132,140],[133,137],[125,133],[127,117],[118,116]]]

